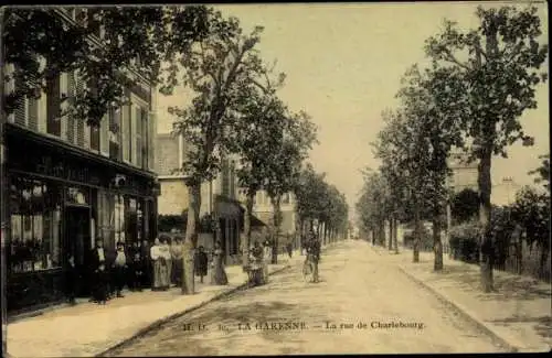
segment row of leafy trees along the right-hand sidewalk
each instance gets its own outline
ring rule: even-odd
[[[383,217],[414,223],[414,262],[418,261],[422,220],[429,219],[434,269],[442,270],[440,229],[449,197],[447,159],[453,149],[464,150],[468,161],[478,162],[481,283],[489,292],[495,251],[491,160],[493,155],[507,158],[507,148],[517,141],[533,144],[520,118],[537,107],[535,88],[546,79],[541,66],[548,45],[539,43],[541,22],[535,8],[479,7],[476,15],[479,25],[469,31],[445,21],[443,32],[426,41],[429,65],[415,65],[404,76],[400,106],[383,113],[385,127],[372,143],[382,163],[379,174],[368,177],[368,194],[359,206],[370,208],[361,214],[364,227],[381,225]]]

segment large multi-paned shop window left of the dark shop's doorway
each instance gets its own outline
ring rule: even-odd
[[[61,188],[51,182],[14,178],[10,186],[12,272],[60,268]]]

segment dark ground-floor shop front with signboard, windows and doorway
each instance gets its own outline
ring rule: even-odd
[[[7,128],[8,311],[64,300],[71,256],[81,274],[78,294],[87,295],[87,253],[96,238],[108,250],[117,241],[155,238],[155,175],[55,139]]]

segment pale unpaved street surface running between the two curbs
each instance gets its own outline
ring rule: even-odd
[[[112,355],[503,351],[365,241],[337,243],[321,260],[320,283],[306,283],[296,262],[269,284],[213,302]]]

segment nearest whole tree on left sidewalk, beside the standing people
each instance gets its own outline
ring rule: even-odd
[[[221,159],[231,148],[231,133],[238,121],[241,94],[262,72],[255,50],[262,28],[243,35],[235,18],[210,21],[210,35],[177,58],[183,67],[182,83],[194,97],[185,109],[169,108],[177,117],[173,132],[182,134],[189,150],[184,153],[182,172],[189,188],[188,224],[184,240],[182,293],[193,294],[193,249],[198,241],[201,184],[220,172]],[[173,78],[178,83],[177,78]]]

